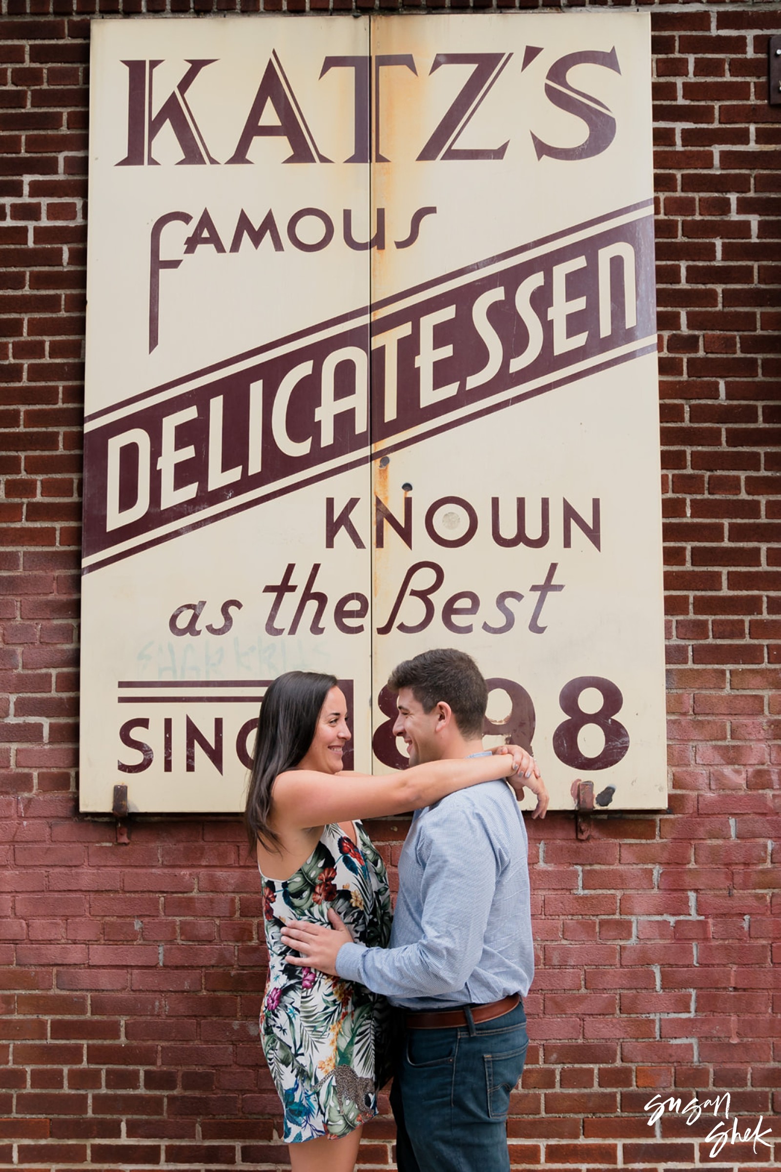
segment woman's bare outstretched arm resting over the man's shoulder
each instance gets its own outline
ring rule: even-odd
[[[502,756],[430,761],[379,777],[290,769],[274,782],[274,822],[302,829],[404,813],[431,805],[455,790],[509,777],[516,771],[525,774],[530,768],[532,757],[519,749]]]

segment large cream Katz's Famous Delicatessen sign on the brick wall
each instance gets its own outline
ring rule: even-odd
[[[82,810],[240,809],[293,668],[400,764],[437,646],[666,804],[648,16],[95,21],[88,301]]]

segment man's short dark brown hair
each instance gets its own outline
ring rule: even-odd
[[[463,736],[482,736],[488,689],[480,668],[466,652],[454,647],[422,652],[393,668],[388,687],[391,691],[409,688],[424,713],[440,701],[450,704]]]

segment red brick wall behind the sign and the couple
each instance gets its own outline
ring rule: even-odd
[[[4,0],[0,1167],[285,1159],[238,823],[139,818],[121,845],[75,812],[89,16],[259,8]],[[652,11],[670,811],[594,817],[584,840],[571,816],[529,825],[540,967],[509,1133],[518,1167],[549,1172],[774,1166],[751,1142],[711,1158],[710,1117],[649,1127],[655,1093],[728,1091],[781,1164],[781,5]],[[371,827],[393,860],[396,827]],[[366,1127],[362,1161],[386,1166],[391,1137],[389,1118]]]

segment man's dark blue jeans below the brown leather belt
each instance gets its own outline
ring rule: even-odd
[[[399,1172],[509,1172],[507,1111],[528,1036],[523,1004],[455,1029],[405,1029],[391,1106]]]

